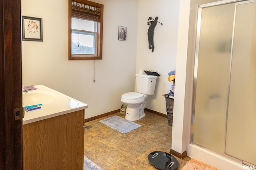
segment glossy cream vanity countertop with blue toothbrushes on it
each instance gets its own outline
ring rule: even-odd
[[[72,113],[88,108],[88,105],[44,85],[34,85],[36,90],[23,94],[23,107],[42,104],[41,109],[25,111],[23,125]]]

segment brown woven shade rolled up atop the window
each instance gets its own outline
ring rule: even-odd
[[[100,22],[100,8],[72,0],[72,18]]]

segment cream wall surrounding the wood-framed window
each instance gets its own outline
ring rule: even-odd
[[[45,85],[88,104],[86,119],[120,109],[121,95],[135,89],[138,0],[93,1],[104,4],[95,83],[93,60],[68,60],[68,0],[21,0],[22,16],[43,25],[43,42],[22,41],[24,86]],[[118,26],[127,27],[127,41],[118,41]]]

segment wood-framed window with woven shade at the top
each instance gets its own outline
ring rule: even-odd
[[[68,59],[102,59],[103,5],[69,0]]]

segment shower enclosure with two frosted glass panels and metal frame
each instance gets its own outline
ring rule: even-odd
[[[254,167],[256,0],[200,5],[195,51],[190,143]]]

